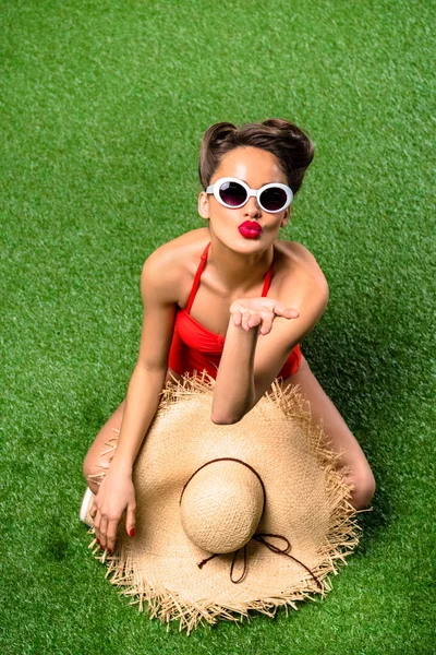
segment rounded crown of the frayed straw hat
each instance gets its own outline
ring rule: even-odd
[[[184,487],[182,526],[207,552],[233,552],[256,532],[264,502],[263,485],[252,467],[231,458],[208,462]]]

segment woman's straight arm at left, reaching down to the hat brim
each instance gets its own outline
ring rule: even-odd
[[[158,253],[154,253],[143,269],[144,321],[140,354],[128,389],[117,450],[93,509],[96,536],[108,549],[114,546],[117,527],[125,509],[128,533],[135,526],[132,468],[165,385],[177,302],[174,269],[164,267]]]

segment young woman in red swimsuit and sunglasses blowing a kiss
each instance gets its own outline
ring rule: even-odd
[[[365,455],[299,345],[327,306],[326,278],[304,246],[279,240],[312,159],[311,141],[282,119],[239,130],[217,123],[204,134],[198,212],[206,226],[145,262],[137,364],[125,401],[84,462],[101,548],[113,549],[124,510],[125,528],[134,535],[133,464],[167,380],[195,370],[216,378],[216,424],[241,420],[277,377],[284,385],[299,384],[332,448],[344,451],[339,466],[353,487],[353,505],[370,503],[375,481]],[[108,452],[107,443],[117,439]]]

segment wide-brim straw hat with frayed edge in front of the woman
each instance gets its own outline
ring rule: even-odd
[[[133,471],[135,536],[122,519],[112,555],[89,546],[141,610],[189,632],[324,596],[360,532],[298,386],[274,385],[234,425],[211,422],[213,389],[206,376],[166,388]]]

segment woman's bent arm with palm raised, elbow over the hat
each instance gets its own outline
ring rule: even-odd
[[[282,302],[252,298],[235,301],[230,308],[233,313],[214,390],[214,422],[241,420],[270,388],[291,350],[318,322],[328,302],[324,275],[305,275],[298,289],[298,294],[295,285],[284,289]],[[259,306],[265,307],[264,314]],[[238,324],[240,310],[245,311],[242,324]]]

